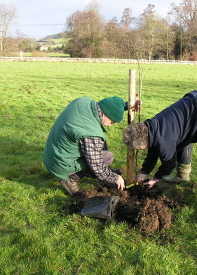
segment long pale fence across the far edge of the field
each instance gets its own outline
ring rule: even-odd
[[[45,61],[45,62],[84,62],[84,63],[118,63],[118,64],[183,64],[197,65],[197,61],[174,61],[174,60],[147,60],[147,59],[112,59],[112,58],[70,58],[70,57],[6,57],[0,56],[0,61]]]

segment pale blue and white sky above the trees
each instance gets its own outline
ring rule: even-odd
[[[138,17],[149,3],[155,5],[157,14],[166,17],[169,5],[172,2],[178,4],[180,0],[96,0],[96,2],[100,4],[100,13],[106,21],[113,17],[121,21],[125,8],[131,8],[132,16]],[[58,34],[63,32],[67,17],[77,10],[84,10],[88,3],[90,0],[6,0],[6,5],[14,5],[18,11],[17,19],[14,19],[13,25],[10,26],[10,34],[17,36],[18,31],[37,40],[50,34]]]

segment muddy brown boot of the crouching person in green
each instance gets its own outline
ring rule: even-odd
[[[68,181],[59,179],[59,183],[69,193],[69,195],[72,196],[74,193],[79,191],[79,180],[80,177],[76,174],[72,174],[68,176]]]

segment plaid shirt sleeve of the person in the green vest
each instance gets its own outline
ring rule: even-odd
[[[115,184],[118,181],[118,175],[103,164],[103,140],[100,137],[84,137],[80,142],[87,164],[96,177]]]

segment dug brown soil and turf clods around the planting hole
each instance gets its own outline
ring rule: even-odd
[[[169,184],[163,181],[156,183],[151,189],[138,185],[117,190],[115,184],[111,186],[104,184],[98,190],[80,190],[74,195],[74,200],[84,206],[85,201],[91,197],[118,196],[120,201],[116,206],[115,221],[127,221],[143,234],[149,234],[155,230],[169,229],[174,219],[170,209],[178,205],[183,206],[180,202],[163,195],[167,188]]]

